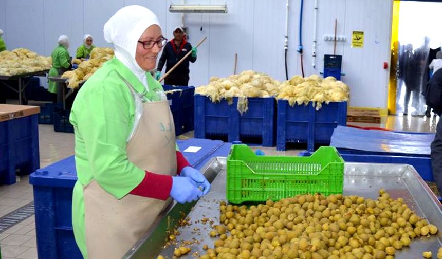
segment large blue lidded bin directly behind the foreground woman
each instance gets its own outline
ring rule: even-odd
[[[183,152],[196,169],[200,169],[212,157],[227,156],[230,150],[230,143],[218,140],[177,140],[177,144],[182,152],[190,146],[201,147],[197,152]],[[29,177],[34,190],[39,258],[82,258],[72,229],[72,191],[76,181],[74,156],[39,169]]]

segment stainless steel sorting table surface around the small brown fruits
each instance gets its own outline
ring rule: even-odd
[[[212,229],[208,222],[203,224],[201,219],[208,218],[219,224],[219,201],[226,198],[226,158],[212,159],[201,172],[209,181],[214,179],[210,192],[196,204],[171,205],[123,258],[156,258],[159,254],[172,258],[176,246],[164,247],[167,230],[173,228],[183,215],[190,218],[192,225],[180,227],[176,241],[178,245],[181,241],[192,241],[193,244],[191,253],[182,258],[191,258],[194,252],[203,254],[204,244],[213,247],[214,239],[209,237]],[[345,163],[344,195],[377,199],[380,188],[384,188],[392,198],[402,197],[419,216],[442,230],[442,205],[413,167],[407,164]],[[430,238],[415,238],[409,248],[397,251],[395,258],[422,258],[423,251],[432,251],[434,257],[441,244],[441,231]]]

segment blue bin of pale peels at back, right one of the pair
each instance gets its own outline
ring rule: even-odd
[[[315,144],[329,144],[338,125],[347,124],[347,102],[322,104],[316,110],[308,105],[291,107],[286,100],[278,100],[277,150],[286,150],[286,143],[307,143],[313,151]]]

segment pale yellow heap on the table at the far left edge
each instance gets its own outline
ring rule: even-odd
[[[49,70],[52,66],[50,57],[43,57],[25,48],[0,52],[0,75],[16,76]]]

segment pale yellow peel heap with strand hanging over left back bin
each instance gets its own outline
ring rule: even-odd
[[[240,97],[237,108],[244,113],[247,111],[247,97],[275,96],[280,84],[281,82],[264,73],[246,70],[227,78],[211,77],[208,85],[195,89],[195,94],[207,96],[212,102],[226,99],[229,104],[232,103],[233,97]]]

